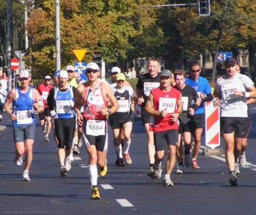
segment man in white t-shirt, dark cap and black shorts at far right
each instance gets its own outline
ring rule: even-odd
[[[248,76],[236,72],[236,61],[227,58],[226,74],[217,79],[214,104],[221,110],[221,134],[225,141],[225,158],[229,169],[231,186],[238,185],[235,169],[234,147],[241,146],[246,134],[248,121],[247,98],[255,96],[253,81]],[[249,91],[249,92],[246,92]],[[220,98],[220,100],[219,100]]]

